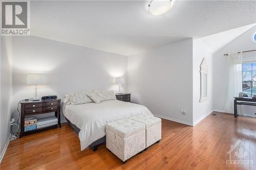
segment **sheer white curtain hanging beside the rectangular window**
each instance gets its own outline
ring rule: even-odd
[[[238,96],[238,94],[242,92],[242,53],[229,54],[227,58],[229,68],[229,84],[225,110],[227,110],[229,113],[233,113],[234,97]]]

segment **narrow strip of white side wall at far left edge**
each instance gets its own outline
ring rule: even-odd
[[[1,37],[1,99],[0,99],[0,145],[1,159],[6,143],[9,141],[12,109],[12,37]],[[1,161],[1,160],[0,160]]]

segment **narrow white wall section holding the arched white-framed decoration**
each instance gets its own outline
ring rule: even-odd
[[[193,41],[193,124],[197,124],[205,116],[212,112],[212,53],[205,45],[205,38]],[[208,66],[207,93],[208,99],[200,100],[200,65],[206,58]]]

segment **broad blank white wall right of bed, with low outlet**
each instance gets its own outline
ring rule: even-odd
[[[153,114],[193,125],[193,39],[128,58],[131,100]],[[184,108],[186,115],[181,114]]]

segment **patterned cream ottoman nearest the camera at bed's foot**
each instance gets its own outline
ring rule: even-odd
[[[123,163],[145,149],[145,125],[130,118],[106,124],[106,148]]]

